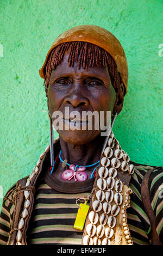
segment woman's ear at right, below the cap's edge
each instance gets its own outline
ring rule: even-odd
[[[112,111],[113,114],[117,112],[119,114],[123,107],[123,101],[124,101],[124,86],[123,83],[121,83],[120,90],[116,94],[116,101],[114,104],[114,109]]]

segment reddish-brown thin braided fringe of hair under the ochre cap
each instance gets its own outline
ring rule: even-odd
[[[117,71],[116,63],[110,54],[103,50],[103,48],[91,44],[90,42],[74,41],[64,42],[56,46],[49,54],[47,63],[43,70],[45,74],[45,81],[43,85],[45,86],[46,95],[51,73],[53,70],[55,70],[56,66],[61,63],[68,48],[70,48],[70,53],[68,56],[69,66],[73,66],[74,62],[78,61],[78,58],[79,69],[81,67],[83,69],[88,69],[89,67],[93,68],[93,66],[101,66],[102,68],[106,68],[106,65],[108,65],[111,84],[114,87],[115,92],[118,94],[120,90],[121,78]]]

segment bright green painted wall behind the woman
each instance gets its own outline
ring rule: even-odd
[[[159,45],[163,44],[163,1],[137,3],[135,0],[1,0],[3,194],[32,171],[49,144],[47,99],[39,68],[54,39],[77,25],[102,26],[120,40],[128,59],[129,86],[114,126],[115,135],[131,160],[163,164],[163,57],[158,54]]]

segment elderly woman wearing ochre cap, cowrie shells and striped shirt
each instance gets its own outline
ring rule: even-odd
[[[111,131],[127,93],[128,67],[120,42],[101,27],[71,28],[54,41],[40,76],[51,144],[32,173],[4,197],[1,244],[161,245],[162,168],[131,162]],[[65,109],[80,118],[67,116]],[[94,119],[88,129],[85,111],[104,112],[104,127],[111,113],[105,136],[102,128],[95,129]],[[53,141],[55,113],[62,113],[62,125]]]

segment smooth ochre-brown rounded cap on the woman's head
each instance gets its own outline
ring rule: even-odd
[[[90,42],[94,45],[103,48],[106,52],[108,52],[111,55],[111,57],[115,60],[117,70],[118,72],[120,72],[122,83],[126,88],[125,94],[127,93],[128,65],[123,47],[113,34],[111,34],[106,29],[95,25],[82,25],[73,27],[59,35],[58,38],[53,42],[50,50],[47,53],[45,62],[43,63],[42,68],[39,70],[40,76],[42,78],[45,78],[44,68],[48,56],[53,50],[53,48],[62,44],[63,42],[72,41]]]

